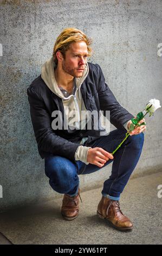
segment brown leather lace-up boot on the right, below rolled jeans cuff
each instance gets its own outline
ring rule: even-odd
[[[122,214],[119,201],[115,201],[102,196],[98,205],[97,215],[100,218],[105,218],[108,220],[113,225],[113,227],[119,230],[133,229],[133,224],[129,218]]]

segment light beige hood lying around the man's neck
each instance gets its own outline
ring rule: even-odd
[[[83,81],[85,81],[89,72],[88,63],[86,63],[85,70],[83,71],[82,77],[75,78],[76,81],[76,89],[81,86]],[[55,80],[55,72],[54,72],[54,59],[51,57],[48,59],[43,65],[41,69],[41,77],[43,81],[46,83],[48,88],[55,93],[57,96],[61,97],[62,99],[68,99],[64,97],[62,94],[57,82]],[[70,96],[69,96],[70,97]]]

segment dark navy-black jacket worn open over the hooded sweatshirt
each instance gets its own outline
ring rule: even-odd
[[[81,85],[81,94],[87,110],[90,112],[110,111],[111,123],[119,129],[124,129],[124,124],[134,118],[116,100],[115,96],[105,83],[102,70],[98,64],[88,62],[89,73]],[[34,133],[38,145],[38,151],[42,159],[49,153],[75,160],[75,151],[79,147],[82,137],[88,137],[88,141],[99,137],[98,130],[53,130],[51,122],[54,118],[51,113],[54,110],[62,112],[62,99],[51,92],[46,83],[38,76],[27,89],[30,103],[30,115]],[[105,114],[104,114],[105,115]],[[92,124],[93,129],[93,124]],[[126,130],[125,130],[126,131]],[[87,145],[87,144],[86,144]]]

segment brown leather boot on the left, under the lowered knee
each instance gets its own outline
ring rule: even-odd
[[[62,200],[61,214],[65,220],[73,221],[74,218],[79,215],[79,197],[80,197],[80,188],[78,193],[74,197],[70,197],[67,194],[64,194]],[[80,197],[81,199],[81,197]],[[81,199],[82,202],[82,199]]]

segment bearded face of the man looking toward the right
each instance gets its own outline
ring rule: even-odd
[[[74,77],[81,77],[88,57],[86,42],[73,42],[62,59],[62,69]]]

